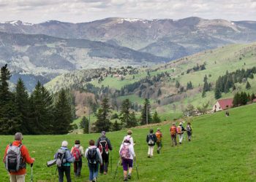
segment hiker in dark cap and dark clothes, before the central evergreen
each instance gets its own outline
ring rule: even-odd
[[[103,162],[103,165],[99,167],[99,173],[106,175],[108,173],[109,150],[112,151],[112,146],[110,140],[106,137],[105,131],[102,131],[101,137],[97,141],[97,148],[99,148]]]

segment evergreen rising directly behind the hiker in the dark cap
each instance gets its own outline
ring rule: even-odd
[[[95,122],[96,131],[102,132],[106,131],[108,132],[111,127],[111,122],[108,119],[108,114],[110,113],[110,105],[108,104],[108,98],[104,98],[102,100],[102,106],[99,108],[97,113],[97,121]]]

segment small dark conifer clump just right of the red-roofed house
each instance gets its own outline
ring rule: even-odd
[[[255,98],[256,97],[254,93],[250,95],[249,93],[246,93],[246,92],[241,92],[241,93],[237,92],[233,98],[233,107],[244,106],[248,102],[252,102]]]

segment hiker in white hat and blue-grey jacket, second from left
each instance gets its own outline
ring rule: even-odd
[[[62,141],[61,148],[54,155],[54,159],[56,159],[56,165],[59,173],[59,182],[64,181],[64,173],[67,178],[67,182],[71,182],[70,177],[70,163],[75,162],[75,157],[72,157],[69,149],[67,149],[67,141]]]

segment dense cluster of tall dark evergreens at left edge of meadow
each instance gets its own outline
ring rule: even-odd
[[[72,109],[64,90],[55,102],[53,95],[39,82],[29,95],[22,79],[18,79],[13,92],[8,81],[11,74],[7,65],[0,75],[0,134],[29,135],[66,134],[71,129]]]

